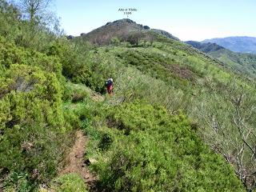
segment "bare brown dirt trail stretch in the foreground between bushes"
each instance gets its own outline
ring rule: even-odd
[[[94,174],[90,173],[89,168],[86,166],[86,159],[84,158],[86,153],[86,140],[86,136],[82,134],[81,130],[78,130],[76,132],[74,146],[70,150],[70,154],[66,157],[66,167],[64,170],[60,171],[60,175],[77,173],[84,179],[87,186],[92,188],[97,178]]]

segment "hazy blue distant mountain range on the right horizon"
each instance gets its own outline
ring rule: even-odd
[[[202,42],[213,42],[234,52],[256,54],[256,38],[254,37],[211,38]]]

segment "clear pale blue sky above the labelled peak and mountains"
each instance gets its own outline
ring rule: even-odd
[[[136,8],[130,19],[166,30],[181,40],[256,37],[256,0],[55,0],[66,34],[88,33],[126,18],[119,8]]]

